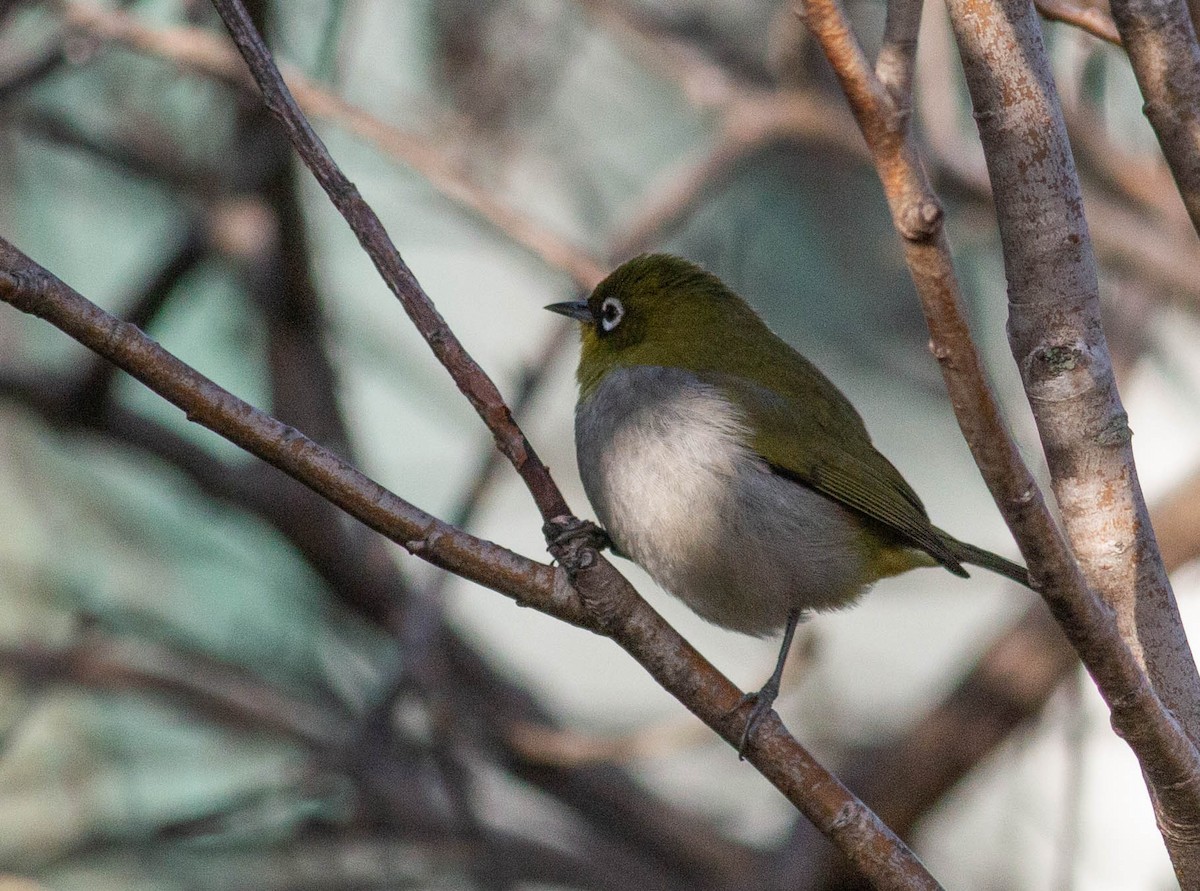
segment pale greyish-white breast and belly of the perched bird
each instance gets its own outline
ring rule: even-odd
[[[852,512],[782,479],[715,387],[610,372],[576,412],[580,474],[618,549],[709,621],[750,634],[862,588]]]

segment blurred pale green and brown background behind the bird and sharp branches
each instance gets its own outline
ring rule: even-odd
[[[790,4],[247,6],[577,513],[575,336],[541,306],[662,249],[814,359],[940,526],[1015,556]],[[848,11],[871,52],[883,4]],[[1195,633],[1200,252],[1121,49],[1045,35]],[[199,0],[0,0],[0,232],[402,497],[545,560],[528,494],[228,54]],[[1040,467],[937,4],[914,120],[979,347]],[[761,684],[775,641],[618,564]],[[1091,683],[1040,604],[982,570],[913,573],[808,623],[778,708],[948,887],[1175,886]],[[0,307],[0,889],[858,886],[616,646],[444,576]]]

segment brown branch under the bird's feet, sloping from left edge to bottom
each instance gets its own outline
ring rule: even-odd
[[[739,707],[740,692],[594,551],[584,550],[572,561],[578,566],[576,591],[562,570],[430,516],[300,431],[221,389],[2,239],[0,300],[50,322],[181,408],[190,420],[304,483],[409,552],[517,603],[611,636],[726,742],[739,743],[748,711]],[[764,722],[748,760],[880,887],[938,887],[916,856],[787,734],[778,717]]]

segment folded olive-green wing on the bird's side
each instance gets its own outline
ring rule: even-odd
[[[816,373],[811,381],[793,378],[782,395],[742,377],[707,377],[745,412],[751,448],[775,473],[858,510],[966,575],[912,486],[871,444],[858,412]]]

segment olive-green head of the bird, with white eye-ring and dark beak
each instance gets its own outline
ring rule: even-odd
[[[776,340],[720,279],[665,253],[622,264],[587,300],[546,309],[580,322],[583,395],[618,366],[733,370],[738,353]]]

